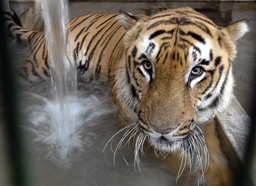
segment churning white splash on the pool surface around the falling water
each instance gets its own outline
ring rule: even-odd
[[[44,152],[55,163],[65,164],[71,161],[77,151],[91,150],[96,138],[95,127],[106,127],[104,118],[113,116],[116,107],[110,96],[112,88],[108,82],[80,81],[76,95],[68,95],[71,103],[66,105],[68,108],[65,111],[68,113],[61,123],[58,100],[48,95],[49,91],[53,91],[46,88],[49,82],[28,87],[21,96],[22,106],[26,108],[23,110],[27,118],[25,129],[29,132],[26,135],[31,136],[32,132],[35,135],[32,145],[36,145],[36,149]]]

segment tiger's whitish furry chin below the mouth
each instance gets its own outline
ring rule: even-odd
[[[159,138],[149,138],[150,144],[160,152],[169,153],[180,149],[181,141],[170,140],[161,136]]]

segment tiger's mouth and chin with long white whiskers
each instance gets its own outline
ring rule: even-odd
[[[132,146],[134,147],[134,165],[137,164],[139,170],[140,158],[143,157],[143,155],[145,156],[144,153],[147,151],[149,146],[154,147],[154,151],[157,157],[160,155],[165,158],[166,155],[170,152],[181,150],[180,156],[182,157],[182,160],[183,157],[188,157],[188,163],[190,167],[194,161],[193,159],[195,159],[196,163],[198,164],[197,167],[200,166],[200,168],[204,169],[204,171],[208,168],[208,165],[204,166],[209,163],[207,143],[204,139],[204,135],[201,129],[197,125],[193,126],[193,130],[183,134],[180,133],[179,128],[176,128],[168,133],[159,133],[154,131],[151,126],[143,125],[138,119],[135,119],[133,122],[126,125],[123,129],[116,132],[116,134],[114,134],[112,138],[108,140],[106,146],[112,139],[116,137],[117,134],[122,131],[125,131],[123,137],[119,140],[113,152],[116,154],[117,149],[124,148],[126,145],[129,148],[130,142],[133,143]],[[180,133],[180,135],[178,135],[178,133]],[[145,141],[150,143],[148,147],[145,146]],[[104,147],[103,152],[106,146]],[[187,158],[185,158],[185,164],[186,161]]]

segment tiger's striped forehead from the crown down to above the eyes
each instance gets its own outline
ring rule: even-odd
[[[193,9],[169,10],[145,20],[136,44],[140,53],[156,58],[157,62],[170,55],[173,60],[175,55],[186,55],[190,63],[201,59],[209,61],[212,48],[216,47],[218,29],[210,19]]]

